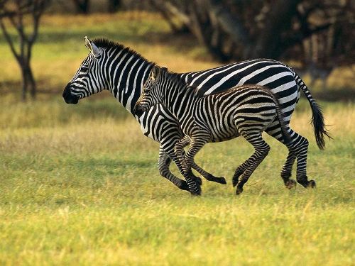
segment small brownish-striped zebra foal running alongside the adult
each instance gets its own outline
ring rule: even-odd
[[[135,109],[147,111],[154,104],[162,104],[173,113],[183,133],[190,138],[190,148],[185,156],[185,140],[175,144],[175,153],[187,177],[192,174],[195,155],[206,143],[242,135],[253,145],[253,155],[234,173],[236,194],[243,192],[244,184],[268,155],[270,146],[261,134],[275,119],[280,123],[280,141],[285,145],[290,143],[290,134],[285,128],[278,101],[268,89],[258,85],[243,85],[204,96],[194,87],[188,87],[178,74],[155,65],[143,85]]]

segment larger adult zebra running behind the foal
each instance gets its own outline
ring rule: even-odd
[[[158,169],[160,174],[173,182],[180,189],[194,190],[198,187],[191,182],[190,187],[169,170],[170,159],[180,168],[180,162],[174,153],[174,145],[182,136],[178,121],[163,106],[155,105],[140,115],[133,113],[133,107],[141,95],[143,82],[155,65],[137,52],[125,48],[119,43],[107,39],[89,40],[84,38],[89,55],[83,60],[72,80],[62,94],[67,104],[77,102],[91,94],[108,89],[141,124],[144,135],[160,143]],[[258,84],[271,89],[280,101],[280,108],[285,113],[285,126],[289,129],[293,145],[289,148],[281,177],[286,186],[293,184],[290,179],[293,163],[297,157],[297,182],[307,187],[306,160],[308,140],[289,128],[291,115],[300,97],[300,90],[305,93],[312,109],[312,124],[317,145],[324,148],[324,128],[322,111],[315,103],[302,79],[282,62],[267,59],[248,60],[216,67],[212,70],[180,74],[187,84],[194,85],[204,94],[222,92],[237,84]],[[280,140],[280,126],[275,121],[266,128],[266,133]],[[181,168],[180,168],[181,170]],[[207,172],[202,172],[209,176]]]

